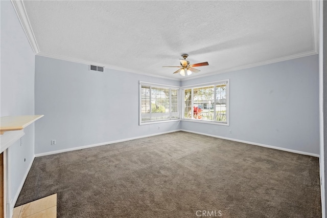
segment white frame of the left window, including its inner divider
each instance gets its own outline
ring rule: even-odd
[[[172,107],[172,91],[177,91],[177,118],[171,118],[172,112],[169,112],[169,118],[168,119],[159,119],[159,120],[149,120],[149,121],[142,121],[142,86],[149,86],[151,88],[159,88],[159,89],[169,89],[170,90],[170,97],[169,97],[169,105],[170,110]],[[151,94],[150,94],[151,95]],[[139,81],[139,91],[138,91],[138,98],[139,98],[139,107],[138,107],[138,124],[139,125],[147,125],[147,124],[154,124],[154,123],[165,123],[165,122],[174,122],[174,121],[180,121],[180,86],[174,86],[174,85],[165,85],[165,84],[159,84],[159,83],[152,83],[152,82],[144,82]],[[151,107],[150,107],[151,108]],[[151,110],[151,109],[150,109]]]

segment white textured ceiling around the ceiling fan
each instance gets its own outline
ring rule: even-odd
[[[43,56],[187,79],[317,53],[316,1],[24,1]],[[181,54],[208,61],[172,74]]]

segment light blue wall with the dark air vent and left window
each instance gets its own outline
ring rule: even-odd
[[[180,122],[138,125],[139,80],[180,81],[36,56],[35,154],[124,140],[180,129]],[[158,128],[160,126],[160,129]],[[51,145],[51,140],[56,145]]]

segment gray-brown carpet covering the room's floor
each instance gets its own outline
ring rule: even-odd
[[[53,193],[58,217],[321,217],[318,158],[185,132],[35,158],[16,206]]]

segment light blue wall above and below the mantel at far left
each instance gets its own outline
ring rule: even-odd
[[[0,1],[0,4],[1,117],[33,115],[35,55],[11,2]],[[34,159],[34,125],[25,128],[24,132],[23,144],[18,141],[8,149],[9,201],[18,197]]]

